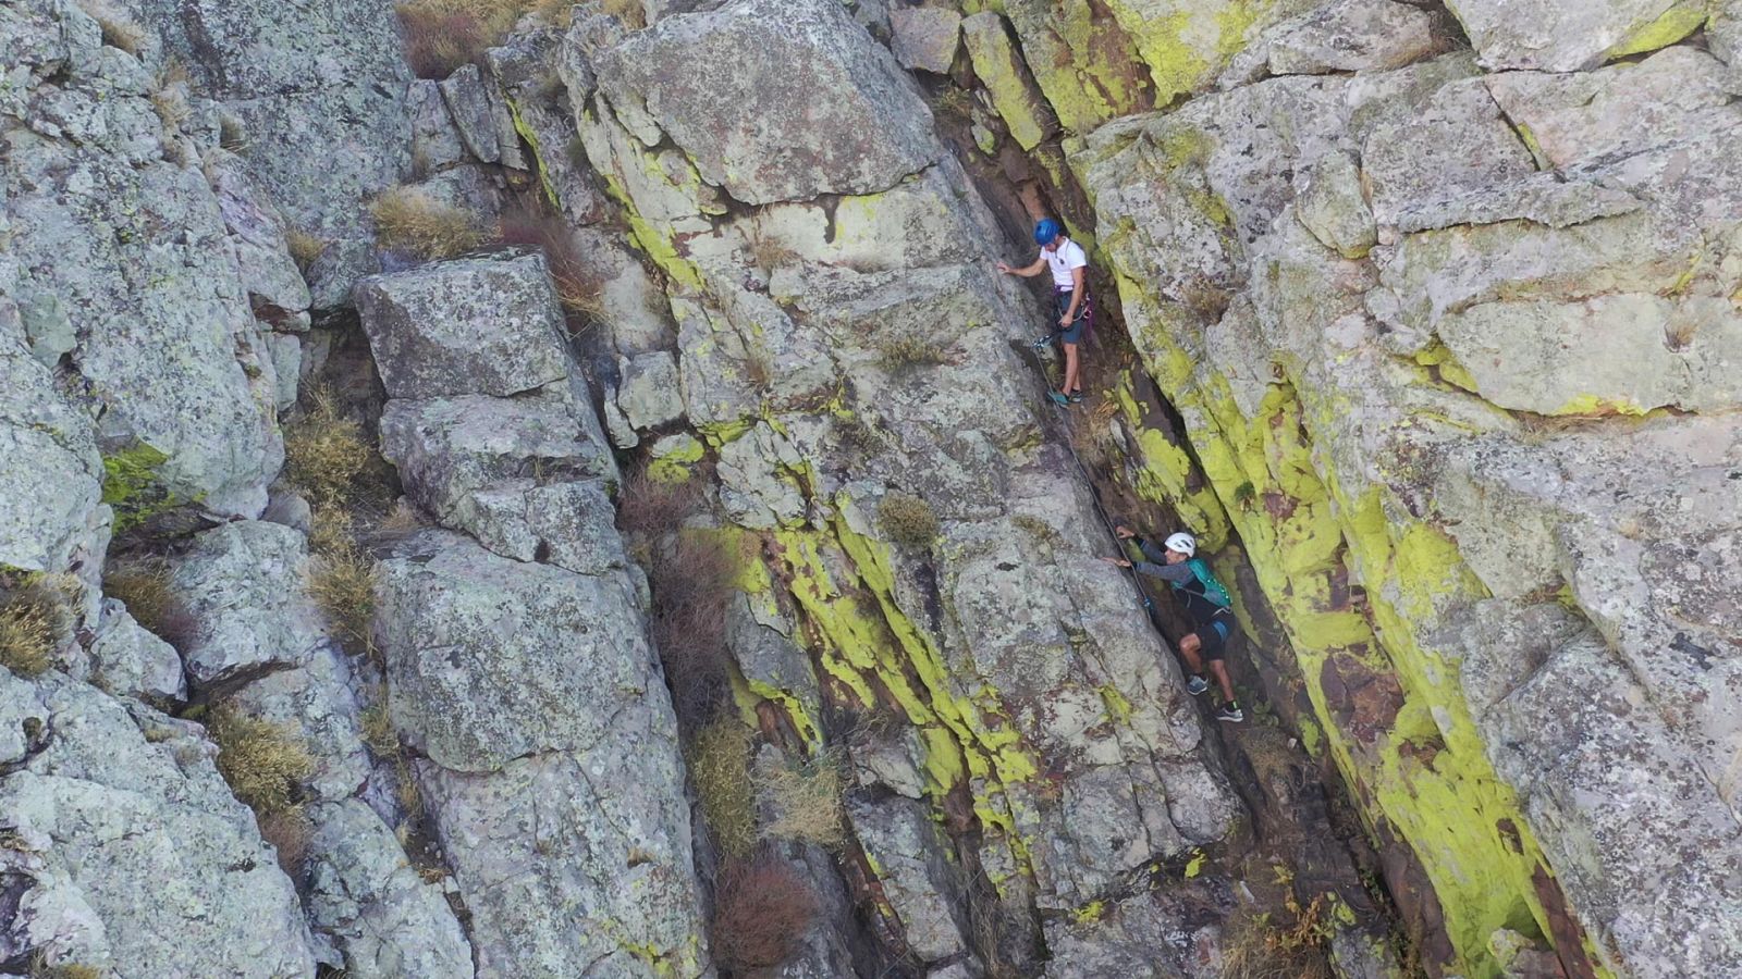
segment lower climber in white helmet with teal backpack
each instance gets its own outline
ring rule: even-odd
[[[1230,608],[1232,599],[1228,598],[1228,589],[1221,587],[1221,582],[1216,580],[1216,573],[1197,556],[1197,538],[1186,531],[1178,531],[1167,538],[1164,547],[1155,547],[1146,538],[1132,533],[1125,524],[1115,526],[1113,533],[1120,540],[1134,542],[1148,561],[1138,561],[1136,564],[1124,557],[1103,557],[1103,561],[1118,564],[1120,568],[1134,566],[1143,575],[1162,578],[1172,585],[1174,594],[1186,606],[1186,615],[1192,617],[1195,631],[1179,639],[1179,655],[1185,657],[1186,665],[1192,669],[1186,690],[1193,697],[1209,690],[1209,683],[1204,679],[1204,660],[1209,660],[1209,671],[1216,674],[1216,683],[1221,686],[1223,695],[1223,706],[1216,711],[1216,719],[1244,721],[1246,712],[1240,711],[1240,702],[1233,699],[1233,683],[1228,679],[1228,665],[1223,662],[1228,639],[1233,638],[1237,627],[1233,610]]]

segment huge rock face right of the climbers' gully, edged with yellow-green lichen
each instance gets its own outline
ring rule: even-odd
[[[1451,7],[1489,68],[1679,37],[1671,3]],[[1742,362],[1721,78],[1686,47],[1561,75],[1448,56],[1237,84],[1071,160],[1101,226],[1132,228],[1104,258],[1211,488],[1181,474],[1167,496],[1240,535],[1340,765],[1415,840],[1446,970],[1514,948],[1502,906],[1568,974],[1585,941],[1632,976],[1739,967],[1733,915],[1679,899],[1700,885],[1636,887],[1641,866],[1691,881],[1742,861],[1718,801],[1737,730],[1709,707],[1737,695],[1732,603],[1711,598],[1733,587],[1737,498],[1718,491],[1737,437],[1718,366]],[[1432,718],[1434,756],[1409,718]],[[1427,801],[1448,798],[1469,812]],[[1465,824],[1529,840],[1442,845]]]

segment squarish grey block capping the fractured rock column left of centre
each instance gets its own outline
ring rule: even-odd
[[[563,314],[540,254],[441,261],[357,284],[388,397],[505,397],[570,375]]]

